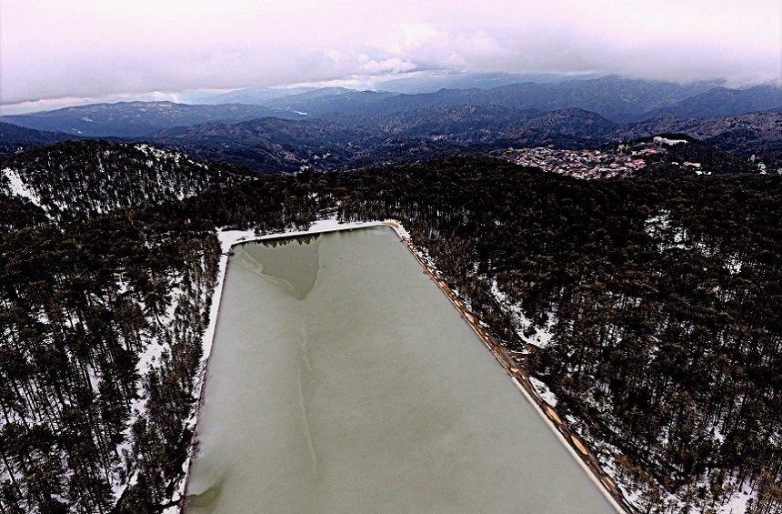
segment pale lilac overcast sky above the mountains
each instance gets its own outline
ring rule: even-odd
[[[2,0],[0,103],[422,69],[775,80],[779,0]]]

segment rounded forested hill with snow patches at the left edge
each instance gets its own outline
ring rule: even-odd
[[[181,200],[243,177],[149,145],[64,142],[0,158],[0,192],[56,220],[85,219],[124,207]]]

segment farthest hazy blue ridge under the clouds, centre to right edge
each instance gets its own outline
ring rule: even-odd
[[[316,96],[315,101],[313,96]],[[418,94],[349,93],[349,90],[331,88],[287,96],[264,105],[304,111],[310,116],[390,115],[424,107],[457,105],[546,111],[577,108],[595,112],[616,123],[627,123],[663,113],[687,117],[737,116],[773,109],[782,106],[782,88],[763,85],[734,89],[718,82],[676,84],[604,76],[490,88],[439,89]]]

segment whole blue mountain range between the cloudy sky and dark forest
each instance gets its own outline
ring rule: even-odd
[[[491,82],[483,78],[487,82],[474,83]],[[507,147],[596,148],[684,134],[738,156],[777,163],[782,155],[782,88],[772,85],[738,89],[604,76],[416,94],[249,88],[211,101],[95,104],[5,116],[0,151],[102,137],[279,172]]]

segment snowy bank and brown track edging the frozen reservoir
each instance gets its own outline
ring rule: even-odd
[[[526,373],[518,367],[514,358],[510,355],[509,350],[501,343],[497,342],[485,328],[482,328],[479,324],[479,320],[470,313],[464,303],[456,296],[456,294],[447,286],[446,281],[439,277],[436,268],[430,266],[425,257],[421,256],[416,247],[413,245],[410,235],[402,224],[394,219],[386,219],[383,221],[369,221],[369,222],[352,222],[352,223],[339,223],[336,218],[326,218],[316,220],[307,230],[296,230],[289,232],[276,232],[272,234],[264,234],[256,236],[252,230],[230,230],[230,231],[217,231],[217,237],[220,240],[221,256],[218,262],[217,278],[215,291],[212,296],[212,302],[209,312],[209,326],[204,334],[204,357],[202,358],[201,369],[199,369],[196,379],[198,384],[195,386],[197,389],[197,402],[195,412],[188,418],[186,424],[191,425],[193,430],[193,436],[191,443],[187,448],[187,458],[183,462],[184,476],[182,477],[177,492],[180,495],[179,501],[175,506],[165,509],[164,514],[175,514],[185,512],[186,499],[187,499],[187,484],[190,478],[190,466],[192,460],[195,457],[198,449],[198,418],[201,411],[201,407],[204,403],[206,396],[206,382],[208,378],[209,358],[211,357],[212,348],[215,343],[215,335],[217,324],[219,323],[219,310],[220,304],[223,298],[223,289],[226,284],[226,277],[228,273],[227,262],[228,257],[232,255],[233,249],[236,246],[244,245],[246,243],[253,243],[257,241],[270,240],[270,239],[286,239],[292,237],[305,237],[316,234],[327,234],[330,232],[340,232],[348,230],[356,230],[360,228],[369,227],[389,227],[391,228],[399,241],[407,248],[410,254],[416,259],[418,264],[424,269],[426,275],[435,283],[440,291],[446,296],[446,299],[456,307],[456,310],[475,332],[477,338],[479,338],[486,348],[495,357],[497,363],[505,369],[506,374],[513,380],[522,395],[526,398],[529,404],[534,408],[537,415],[546,422],[548,428],[550,428],[559,441],[568,450],[568,453],[576,460],[579,466],[585,470],[586,475],[595,484],[608,502],[611,504],[617,512],[631,513],[633,512],[627,500],[624,498],[621,490],[617,487],[614,479],[603,470],[599,461],[595,455],[586,448],[586,445],[581,441],[576,434],[568,428],[567,424],[556,413],[556,410],[546,403],[545,400],[539,397],[536,389],[532,386],[529,377]],[[176,494],[176,492],[175,492]]]

